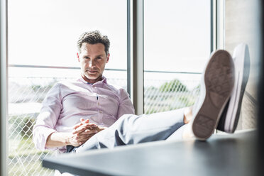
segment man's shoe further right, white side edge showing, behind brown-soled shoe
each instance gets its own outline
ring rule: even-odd
[[[238,125],[243,94],[250,70],[248,45],[240,44],[235,48],[233,62],[235,65],[235,85],[217,126],[217,129],[227,133],[233,133]]]

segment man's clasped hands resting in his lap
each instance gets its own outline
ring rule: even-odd
[[[77,147],[104,129],[105,127],[100,127],[94,123],[89,123],[89,119],[80,119],[80,123],[73,127],[72,137],[69,139],[69,143],[70,145]]]

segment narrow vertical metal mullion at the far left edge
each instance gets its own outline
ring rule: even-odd
[[[0,175],[7,175],[7,0],[0,0]]]

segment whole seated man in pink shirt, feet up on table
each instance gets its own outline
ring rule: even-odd
[[[231,55],[225,50],[216,50],[211,54],[202,75],[201,94],[193,107],[136,116],[133,115],[133,106],[125,92],[109,85],[104,91],[99,89],[105,88],[103,86],[95,87],[105,80],[102,73],[106,62],[109,61],[107,47],[109,45],[104,45],[101,41],[106,36],[102,36],[97,31],[92,33],[97,33],[96,39],[84,39],[84,42],[81,40],[78,42],[77,57],[81,63],[81,82],[55,85],[43,103],[43,109],[33,129],[33,140],[37,148],[44,150],[59,147],[65,152],[65,146],[72,145],[74,147],[67,148],[67,152],[82,152],[166,140],[173,136],[177,136],[175,138],[195,136],[200,140],[206,140],[214,133],[219,119],[238,120],[240,107],[236,109],[233,107],[241,104],[243,96],[237,95],[243,95],[246,84],[236,84],[234,88],[233,86],[237,79],[245,82],[248,79],[247,73],[245,77],[236,76],[239,75],[237,70],[241,70],[237,69],[238,67],[249,67],[244,64],[249,60],[246,45],[238,46],[239,55],[238,57],[235,55],[236,60],[243,65],[234,66]],[[81,39],[90,35],[91,33],[86,33]],[[87,92],[94,98],[88,98]],[[229,101],[232,97],[239,99]],[[97,105],[98,99],[103,98],[104,104]],[[91,101],[91,104],[86,101]],[[97,111],[99,106],[101,115]],[[233,114],[222,114],[225,107],[233,109]],[[222,121],[228,123],[231,128],[236,128],[235,123]]]

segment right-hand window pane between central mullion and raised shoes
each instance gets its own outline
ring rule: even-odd
[[[194,103],[210,55],[211,3],[144,1],[144,112]]]

